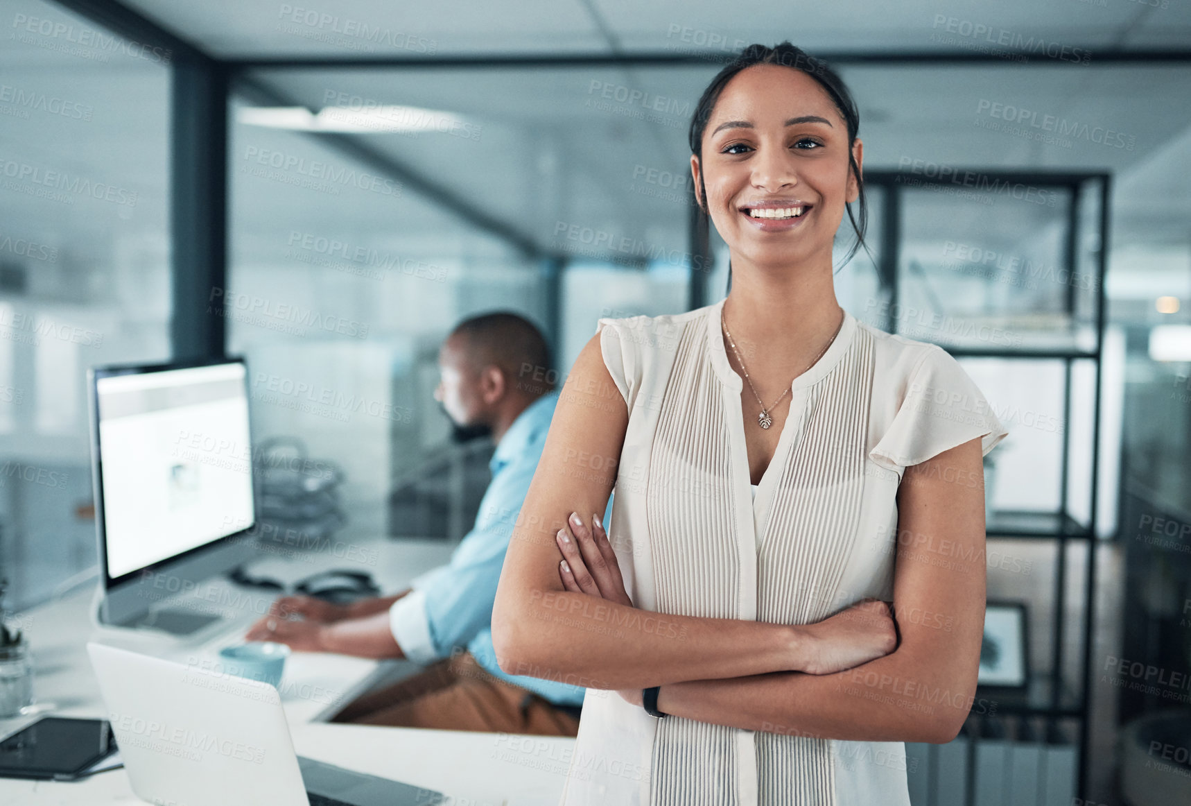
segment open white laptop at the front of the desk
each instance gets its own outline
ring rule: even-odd
[[[442,793],[299,758],[268,683],[88,643],[132,792],[170,806],[429,806]]]

